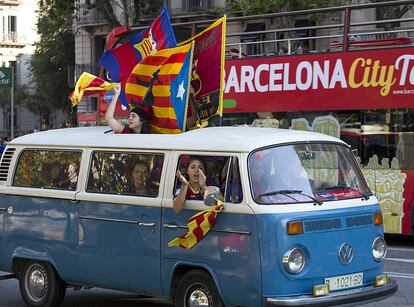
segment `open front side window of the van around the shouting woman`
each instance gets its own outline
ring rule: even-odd
[[[207,177],[206,185],[219,187],[226,202],[240,203],[243,199],[243,193],[237,157],[182,155],[179,159],[177,170],[180,170],[187,180],[190,179],[187,174],[189,161],[197,158],[204,164]],[[176,180],[175,196],[178,194],[180,187],[180,182]]]

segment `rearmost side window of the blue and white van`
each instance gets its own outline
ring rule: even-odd
[[[76,190],[80,151],[25,150],[17,162],[13,186]]]

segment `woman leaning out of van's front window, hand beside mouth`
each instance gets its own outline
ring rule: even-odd
[[[206,188],[206,168],[204,161],[199,157],[190,157],[186,173],[188,179],[177,170],[177,178],[180,185],[175,193],[173,209],[175,213],[179,213],[183,208],[186,199],[203,200],[204,189]]]

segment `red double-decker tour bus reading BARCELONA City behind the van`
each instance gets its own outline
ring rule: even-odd
[[[226,46],[220,124],[301,129],[343,139],[379,199],[385,232],[414,234],[414,19],[400,16],[397,26],[396,19],[377,20],[379,9],[406,2],[289,12],[302,23],[297,16],[340,16],[335,25],[227,33],[232,43]],[[351,22],[361,10],[376,12],[374,20]],[[273,21],[283,17],[266,15]],[[381,28],[390,23],[395,27]],[[106,47],[127,41],[134,31],[112,31]],[[100,101],[98,118],[106,106]]]

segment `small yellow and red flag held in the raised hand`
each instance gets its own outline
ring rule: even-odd
[[[109,83],[90,73],[83,72],[76,82],[75,90],[69,95],[72,106],[79,104],[83,96],[90,96],[102,91],[111,90],[116,83]]]

